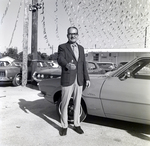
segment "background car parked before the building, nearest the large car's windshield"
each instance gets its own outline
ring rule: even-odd
[[[104,69],[106,72],[113,71],[116,68],[116,64],[113,62],[97,62],[98,66]]]

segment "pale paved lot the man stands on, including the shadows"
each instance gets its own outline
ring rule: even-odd
[[[150,126],[88,116],[83,135],[59,135],[55,105],[36,86],[0,85],[0,146],[150,146]]]

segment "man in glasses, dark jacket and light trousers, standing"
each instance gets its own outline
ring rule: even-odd
[[[62,68],[61,86],[61,125],[60,135],[67,134],[68,128],[68,104],[73,96],[74,101],[74,130],[84,133],[80,127],[80,105],[83,85],[90,86],[89,75],[86,67],[84,48],[77,44],[78,29],[69,27],[67,30],[68,42],[58,47],[58,64]]]

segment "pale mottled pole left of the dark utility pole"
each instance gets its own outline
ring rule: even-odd
[[[22,86],[26,86],[27,84],[28,30],[29,30],[29,0],[24,0]]]

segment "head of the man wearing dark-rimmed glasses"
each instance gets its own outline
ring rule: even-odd
[[[75,43],[78,39],[78,31],[75,28],[69,29],[67,37],[70,43]]]

